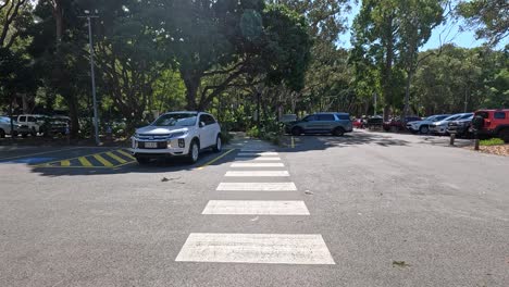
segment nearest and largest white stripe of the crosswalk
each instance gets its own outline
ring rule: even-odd
[[[319,234],[193,233],[175,261],[335,264]]]

